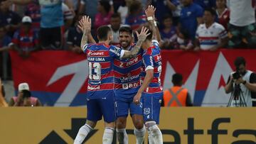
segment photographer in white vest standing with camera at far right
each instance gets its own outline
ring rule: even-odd
[[[231,72],[230,77],[228,77],[228,83],[225,85],[226,94],[232,92],[232,95],[234,95],[230,106],[238,106],[237,103],[242,100],[244,100],[245,106],[256,106],[256,74],[246,70],[245,64],[244,57],[235,59],[236,72]]]

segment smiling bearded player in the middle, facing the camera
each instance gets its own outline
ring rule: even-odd
[[[119,43],[123,50],[132,50],[132,29],[121,27],[119,29]],[[146,128],[144,128],[142,104],[133,103],[133,98],[140,87],[140,73],[142,68],[142,52],[132,59],[114,59],[114,77],[115,77],[115,99],[117,103],[117,140],[119,143],[128,143],[128,136],[125,130],[127,116],[130,113],[134,123],[134,135],[137,138],[137,144],[144,141]]]

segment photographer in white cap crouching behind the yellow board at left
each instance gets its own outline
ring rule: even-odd
[[[18,84],[18,96],[11,98],[9,106],[42,106],[39,99],[31,96],[27,83]]]

